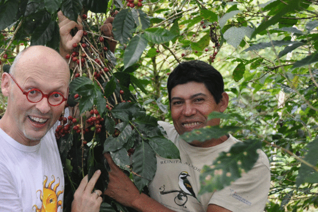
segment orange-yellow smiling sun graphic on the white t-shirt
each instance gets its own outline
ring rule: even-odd
[[[52,184],[55,182],[55,177],[52,176],[53,180],[48,183],[47,187],[45,187],[47,182],[47,177],[46,176],[44,177],[45,179],[43,181],[43,193],[41,190],[38,190],[40,191],[40,199],[42,201],[42,206],[39,209],[38,206],[34,205],[33,208],[36,208],[36,212],[57,212],[57,209],[59,206],[61,206],[62,208],[62,200],[57,201],[58,197],[60,196],[60,194],[64,192],[62,187],[62,191],[58,191],[56,193],[56,189],[60,185],[60,178],[58,178],[59,182],[56,183],[54,187],[52,188]]]

